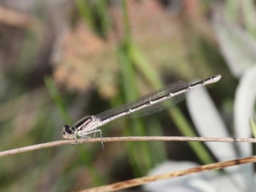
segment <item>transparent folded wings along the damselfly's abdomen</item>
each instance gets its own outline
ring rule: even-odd
[[[169,93],[172,93],[172,92],[177,92],[177,91],[185,88],[186,86],[189,86],[188,82],[176,81],[174,83],[164,86],[164,88],[161,88],[161,90],[158,90],[158,91],[152,92],[152,93],[148,93],[147,95],[144,95],[143,97],[140,97],[139,99],[132,100],[131,102],[128,102],[128,103],[118,106],[116,108],[108,109],[107,111],[104,111],[104,112],[100,113],[99,115],[96,115],[96,117],[99,118],[100,120],[105,120],[106,118],[109,118],[109,116],[118,115],[120,113],[128,111],[129,109],[134,109],[134,108],[137,108],[138,106],[143,106],[144,104],[147,104],[148,102],[150,102],[152,100],[159,99],[159,98],[164,97],[165,95],[168,95]],[[161,102],[157,102],[156,104],[148,106],[147,108],[140,109],[140,111],[135,111],[131,115],[132,116],[143,116],[143,115],[150,115],[150,114],[156,113],[158,111],[162,111],[163,109],[166,109],[169,106],[173,106],[177,102],[180,102],[181,100],[185,99],[186,95],[189,92],[191,92],[191,91],[182,93],[180,95],[176,95],[174,97],[171,97],[170,99],[166,99]]]

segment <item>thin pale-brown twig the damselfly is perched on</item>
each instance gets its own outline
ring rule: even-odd
[[[78,143],[95,143],[101,142],[101,138],[81,138],[77,140]],[[184,136],[131,136],[131,137],[113,137],[102,138],[103,142],[117,142],[117,141],[214,141],[214,142],[245,142],[256,143],[253,138],[203,138],[203,137],[184,137]],[[56,147],[65,144],[76,144],[75,140],[60,140],[49,143],[41,143],[38,145],[29,145],[28,147],[15,148],[12,150],[5,150],[0,152],[0,157],[10,156],[21,152],[28,152],[31,150],[38,150],[41,148]]]

